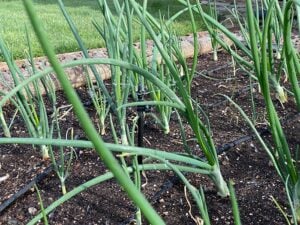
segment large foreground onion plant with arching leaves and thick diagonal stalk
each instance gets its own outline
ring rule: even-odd
[[[170,35],[168,34],[168,32],[165,32],[163,29],[161,29],[162,26],[160,26],[159,23],[153,22],[154,21],[153,17],[150,17],[149,14],[147,14],[145,5],[141,7],[134,0],[125,0],[123,5],[120,6],[120,9],[121,11],[124,10],[126,12],[125,13],[126,18],[124,18],[124,20],[123,19],[116,20],[117,26],[113,25],[112,24],[113,22],[108,24],[108,26],[113,26],[120,29],[120,32],[116,33],[117,35],[123,35],[121,32],[121,30],[123,29],[122,27],[128,26],[127,28],[130,28],[131,26],[130,23],[132,23],[132,16],[133,14],[135,14],[137,16],[138,21],[141,23],[141,26],[144,27],[144,31],[147,31],[148,36],[153,40],[155,48],[157,48],[156,51],[161,55],[161,58],[165,63],[164,65],[165,70],[167,69],[167,71],[169,71],[169,73],[171,74],[172,79],[174,80],[177,87],[176,92],[172,90],[170,86],[168,86],[168,84],[165,84],[163,79],[160,79],[160,74],[157,71],[152,71],[151,68],[148,68],[148,62],[143,63],[137,60],[137,58],[134,58],[134,55],[136,53],[132,48],[132,38],[130,37],[131,35],[130,32],[124,34],[124,35],[128,35],[124,39],[116,38],[115,36],[113,37],[115,38],[113,43],[116,44],[116,46],[119,46],[120,49],[118,51],[111,49],[110,50],[111,58],[89,59],[87,50],[84,47],[78,35],[78,32],[76,31],[75,25],[73,24],[70,17],[68,17],[66,11],[64,10],[62,1],[58,0],[62,12],[64,13],[65,18],[69,23],[70,28],[83,51],[83,55],[85,56],[85,58],[81,60],[69,62],[66,64],[60,64],[58,59],[55,56],[53,47],[51,46],[48,40],[47,34],[42,28],[42,23],[40,22],[39,18],[37,17],[34,11],[33,2],[31,0],[23,0],[23,3],[29,15],[30,21],[33,25],[33,28],[35,30],[35,33],[38,37],[38,40],[41,43],[41,46],[45,54],[49,58],[49,62],[52,67],[45,68],[43,71],[40,72],[35,71],[35,73],[30,78],[26,80],[22,80],[21,82],[17,83],[16,87],[13,88],[9,93],[7,93],[4,96],[4,98],[1,100],[1,102],[10,98],[11,96],[14,96],[16,93],[19,93],[20,90],[22,90],[22,88],[28,87],[32,82],[38,81],[39,79],[45,77],[47,74],[54,71],[57,74],[57,77],[61,83],[63,90],[65,91],[68,100],[70,101],[70,103],[74,108],[74,112],[78,117],[78,120],[88,140],[90,141],[63,140],[63,139],[54,139],[53,137],[49,137],[49,138],[36,137],[36,138],[0,138],[0,143],[20,143],[20,144],[23,143],[23,144],[37,144],[37,145],[49,145],[49,146],[58,145],[60,147],[73,146],[73,147],[82,147],[82,148],[94,148],[95,151],[101,157],[101,160],[103,160],[104,164],[110,170],[110,172],[98,178],[95,178],[91,181],[88,181],[87,183],[84,183],[79,187],[75,188],[74,190],[66,193],[64,197],[54,202],[51,206],[45,209],[44,213],[48,214],[55,207],[62,204],[64,201],[68,200],[69,198],[73,197],[79,192],[85,190],[86,188],[104,182],[107,179],[111,179],[115,177],[117,181],[120,183],[120,185],[124,188],[126,193],[129,195],[131,200],[133,200],[133,202],[141,210],[141,212],[145,215],[145,217],[149,220],[151,224],[164,224],[163,220],[160,218],[157,212],[155,212],[155,210],[152,208],[149,202],[138,190],[139,188],[139,185],[137,185],[138,179],[135,180],[136,184],[134,184],[134,182],[132,182],[132,180],[129,177],[129,174],[136,170],[142,171],[142,170],[159,169],[159,170],[173,170],[180,177],[180,179],[184,182],[184,184],[187,186],[188,190],[192,194],[198,206],[199,213],[202,214],[205,223],[210,224],[207,215],[207,208],[205,207],[203,191],[195,188],[192,184],[190,184],[187,178],[184,176],[184,173],[185,172],[201,173],[209,176],[214,182],[214,184],[216,185],[218,189],[218,194],[223,197],[229,195],[229,190],[220,171],[218,156],[216,153],[216,148],[211,133],[207,128],[207,125],[202,120],[200,120],[198,106],[194,104],[194,101],[191,99],[190,96],[191,82],[194,76],[196,63],[197,63],[196,56],[198,54],[197,33],[196,33],[195,21],[192,16],[193,15],[192,6],[190,2],[187,1],[186,11],[189,12],[191,16],[191,20],[193,22],[192,23],[193,36],[194,36],[194,45],[195,45],[194,47],[195,57],[191,69],[188,68],[187,63],[181,53],[180,44],[178,40],[177,43],[171,45],[169,49],[164,48],[162,40],[163,38],[170,38]],[[99,0],[100,8],[103,7],[103,4],[105,4],[105,1]],[[110,18],[109,16],[106,22],[108,22],[109,19],[112,18]],[[160,28],[158,29],[158,31],[161,32],[159,34],[155,32],[157,30],[156,29],[157,25]],[[100,33],[103,34],[104,37],[106,37],[106,35],[108,34],[112,35],[111,33],[112,31],[105,31],[106,33],[101,32],[101,30],[99,31]],[[162,37],[162,35],[165,36]],[[121,43],[121,40],[128,43],[123,44]],[[112,46],[110,46],[110,48],[112,48]],[[11,58],[7,58],[7,61],[12,62]],[[143,61],[145,62],[145,59],[143,59]],[[63,68],[73,67],[78,65],[84,65],[90,67],[90,69],[93,71],[96,77],[97,85],[99,85],[99,88],[101,89],[108,104],[110,105],[111,110],[114,113],[116,113],[115,111],[118,111],[120,107],[122,108],[124,107],[124,105],[126,105],[127,98],[128,98],[127,92],[129,92],[129,90],[127,89],[128,86],[126,85],[128,84],[126,84],[123,87],[124,89],[120,90],[120,91],[125,91],[124,93],[126,93],[126,95],[124,95],[124,98],[126,99],[122,99],[122,101],[120,101],[120,103],[118,104],[122,103],[123,106],[122,105],[119,106],[114,101],[115,96],[111,96],[107,91],[101,79],[100,76],[101,74],[99,74],[99,72],[96,70],[96,67],[94,66],[95,64],[110,65],[112,71],[114,72],[117,71],[115,75],[118,75],[116,77],[120,79],[125,79],[119,76],[119,73],[122,72],[122,74],[129,75],[130,79],[134,79],[134,77],[137,76],[139,80],[144,79],[147,82],[151,82],[153,83],[153,85],[155,85],[160,90],[162,90],[163,94],[167,96],[168,101],[164,100],[156,103],[154,103],[153,101],[152,102],[145,101],[145,102],[134,103],[134,104],[135,105],[137,104],[163,105],[167,107],[173,107],[174,109],[178,110],[181,116],[184,117],[189,123],[189,125],[191,126],[195,138],[201,150],[203,151],[204,156],[206,157],[206,160],[202,160],[198,156],[199,154],[197,152],[184,155],[184,154],[169,153],[169,152],[147,149],[147,148],[127,146],[126,143],[124,143],[125,145],[104,143],[102,141],[102,138],[99,136],[97,130],[95,129],[90,117],[84,110],[82,102],[80,101],[76,92],[72,88],[70,81],[67,79],[63,70]],[[183,76],[181,75],[180,68],[183,69]],[[125,80],[125,82],[134,82],[134,80],[131,81]],[[116,89],[115,94],[118,94],[117,92],[118,90],[119,89]],[[142,155],[142,156],[152,158],[155,161],[143,165],[139,165],[135,163],[133,164],[133,167],[128,167],[128,166],[121,167],[119,162],[113,156],[112,151],[117,151],[120,154],[123,155],[127,154],[129,156]],[[36,218],[34,218],[31,223],[35,223],[36,221],[38,221],[41,218],[40,216],[41,215],[38,215]]]

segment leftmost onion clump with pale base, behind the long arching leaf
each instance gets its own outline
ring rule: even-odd
[[[33,62],[33,55],[31,51],[30,41],[28,40],[29,46],[29,64],[27,72],[33,74],[36,72],[36,68]],[[20,71],[18,66],[12,61],[12,56],[8,48],[6,47],[4,40],[0,38],[0,49],[3,54],[3,57],[9,67],[13,85],[18,85],[22,80],[25,79],[23,73]],[[5,82],[5,81],[3,81]],[[5,83],[3,84],[5,85]],[[7,84],[8,88],[13,88],[13,85]],[[39,86],[42,86],[45,89],[45,92],[48,93],[48,99],[50,100],[53,107],[55,107],[55,93],[53,82],[49,77],[44,77],[40,80],[37,80],[32,83],[31,86],[24,87],[23,90],[20,90],[16,95],[10,99],[11,102],[16,106],[17,110],[20,112],[24,123],[26,125],[29,134],[33,137],[46,138],[50,137],[50,125],[47,116],[47,109],[39,89]],[[1,110],[2,111],[2,110]],[[3,116],[3,114],[2,114]],[[9,130],[4,122],[4,118],[1,120],[2,127],[6,133],[6,136],[9,136]],[[41,146],[41,152],[43,159],[49,158],[49,146]]]

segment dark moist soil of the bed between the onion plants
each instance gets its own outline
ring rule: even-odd
[[[212,55],[199,56],[197,76],[192,84],[192,97],[206,112],[216,146],[222,146],[241,137],[253,135],[234,106],[224,101],[218,94],[231,96],[247,113],[253,116],[252,101],[249,89],[249,77],[238,67],[232,65],[231,57],[219,52],[218,61]],[[265,105],[257,90],[255,81],[253,102],[258,128],[267,127]],[[107,82],[109,85],[109,82]],[[97,124],[96,112],[90,104],[91,100],[85,87],[77,92],[85,103],[86,109]],[[60,125],[65,134],[74,129],[74,137],[85,139],[68,102],[61,92],[57,93],[58,105],[65,106]],[[282,105],[276,100],[275,105],[282,119],[289,144],[296,149],[299,144],[300,117],[296,112],[295,103],[290,97],[289,102]],[[5,108],[6,118],[14,115],[14,108]],[[136,116],[136,110],[130,109],[128,118]],[[12,125],[12,134],[16,137],[28,136],[22,120],[16,117]],[[109,127],[109,126],[108,126]],[[193,139],[190,127],[185,124],[188,144],[194,154],[201,156],[201,150]],[[170,152],[182,152],[183,144],[176,115],[170,121],[170,133],[164,134],[153,119],[146,116],[144,143],[147,147]],[[3,136],[3,134],[1,134]],[[272,144],[269,135],[264,138]],[[110,129],[107,128],[103,139],[112,142]],[[56,149],[57,150],[57,149]],[[66,149],[66,151],[70,149]],[[92,149],[76,149],[76,158],[72,161],[70,175],[66,180],[68,190],[95,178],[107,171],[101,159]],[[243,224],[286,224],[272,198],[286,212],[290,212],[284,185],[276,174],[267,154],[256,139],[250,139],[233,146],[219,156],[223,176],[233,180]],[[0,183],[0,204],[9,199],[42,173],[49,161],[42,161],[38,148],[25,145],[0,146],[0,177],[9,174],[9,178]],[[185,194],[184,185],[174,182],[165,192],[157,193],[174,178],[172,172],[147,171],[147,184],[142,189],[146,197],[167,224],[196,224],[195,219],[201,218],[191,195]],[[188,174],[188,180],[195,187],[203,187],[211,222],[214,225],[233,224],[230,200],[217,195],[211,181],[198,174]],[[143,178],[143,183],[146,179]],[[49,173],[38,182],[44,207],[61,197],[60,182],[55,172]],[[153,197],[156,196],[156,197]],[[0,213],[0,224],[26,224],[40,211],[37,193],[31,188],[23,196]],[[64,203],[48,216],[50,224],[134,224],[135,207],[114,180],[109,180],[80,193]],[[41,223],[42,224],[42,223]],[[144,224],[147,224],[145,221]],[[201,224],[201,223],[198,223]]]

